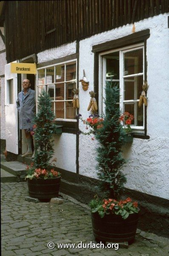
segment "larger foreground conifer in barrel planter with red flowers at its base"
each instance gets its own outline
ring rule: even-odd
[[[82,134],[95,134],[98,143],[97,170],[103,198],[95,196],[89,203],[95,239],[103,242],[132,242],[135,238],[138,207],[131,198],[119,200],[124,190],[126,177],[121,171],[125,160],[121,154],[126,142],[123,126],[120,123],[120,91],[111,82],[106,84],[105,115],[103,119],[90,116],[83,122],[92,131]]]

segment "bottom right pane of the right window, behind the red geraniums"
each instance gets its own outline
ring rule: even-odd
[[[132,125],[143,126],[143,105],[138,108],[138,102],[124,103],[124,112],[129,112],[134,116]]]

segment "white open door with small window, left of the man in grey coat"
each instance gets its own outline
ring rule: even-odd
[[[16,100],[17,74],[11,73],[11,64],[9,63],[5,65],[6,150],[14,154],[18,154],[18,115]]]

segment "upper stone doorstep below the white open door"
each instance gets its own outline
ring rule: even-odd
[[[0,167],[6,172],[11,173],[14,176],[23,176],[26,175],[26,167],[27,165],[24,163],[20,163],[17,161],[11,162],[1,162]]]

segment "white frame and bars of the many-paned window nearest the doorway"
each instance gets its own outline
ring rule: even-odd
[[[66,64],[69,64],[69,63],[72,63],[72,62],[75,62],[76,63],[76,78],[73,79],[73,80],[69,80],[69,81],[66,81]],[[63,65],[65,66],[65,76],[64,76],[64,81],[61,81],[61,82],[56,82],[56,76],[55,76],[55,67],[57,66],[60,66],[60,65]],[[37,68],[37,71],[38,70],[41,70],[41,69],[45,69],[45,84],[38,84],[38,75],[36,77],[36,86],[37,86],[37,93],[36,93],[36,102],[38,104],[38,86],[47,86],[47,85],[50,85],[50,84],[47,84],[46,83],[46,68],[53,68],[54,67],[54,82],[51,83],[51,84],[64,84],[64,92],[66,92],[66,83],[68,82],[76,82],[76,88],[77,88],[77,59],[72,59],[70,61],[63,61],[63,62],[60,62],[60,63],[57,63],[57,64],[52,64],[52,65],[49,65],[49,66],[44,66],[44,67],[39,67]],[[55,87],[54,87],[54,99],[55,99]],[[64,93],[64,100],[52,100],[52,102],[64,102],[64,116],[66,116],[66,102],[72,102],[72,99],[66,99],[66,93]],[[37,111],[37,106],[36,106],[36,111]],[[54,104],[54,113],[55,113],[55,104]],[[56,121],[69,121],[69,122],[77,122],[77,119],[64,119],[64,118],[55,118]]]

